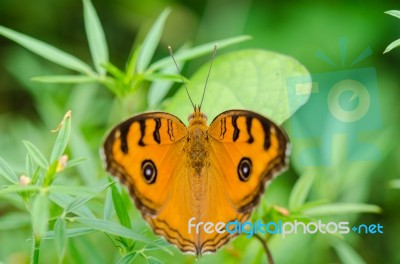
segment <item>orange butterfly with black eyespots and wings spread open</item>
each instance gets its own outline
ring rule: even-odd
[[[116,125],[103,156],[153,231],[181,251],[201,255],[237,235],[209,232],[205,223],[248,220],[266,184],[287,167],[290,145],[280,126],[256,112],[225,111],[208,125],[202,103],[192,105],[188,126],[166,112]]]

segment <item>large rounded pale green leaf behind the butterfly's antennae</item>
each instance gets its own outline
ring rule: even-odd
[[[195,104],[200,103],[208,68],[209,64],[201,67],[188,83]],[[293,80],[299,80],[299,84],[289,85]],[[232,52],[215,59],[201,110],[209,120],[236,108],[253,110],[282,123],[308,100],[310,90],[311,76],[294,58],[265,50]],[[297,96],[298,91],[301,96]],[[193,108],[183,88],[166,110],[187,120]]]

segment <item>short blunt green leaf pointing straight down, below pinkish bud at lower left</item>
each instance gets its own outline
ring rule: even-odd
[[[32,204],[32,229],[35,239],[40,239],[47,231],[49,221],[49,199],[46,194],[39,193]]]

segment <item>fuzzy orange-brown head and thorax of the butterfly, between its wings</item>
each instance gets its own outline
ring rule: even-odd
[[[189,136],[186,150],[189,166],[194,169],[198,176],[208,160],[207,129],[207,116],[200,112],[198,107],[195,107],[194,112],[189,116]]]

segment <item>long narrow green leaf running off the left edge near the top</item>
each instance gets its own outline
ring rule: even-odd
[[[0,35],[3,35],[4,37],[18,43],[33,53],[67,69],[88,75],[93,74],[92,69],[83,61],[40,40],[18,33],[3,26],[0,26]]]

